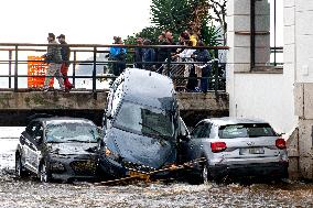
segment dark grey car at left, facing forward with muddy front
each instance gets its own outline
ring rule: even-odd
[[[89,120],[37,118],[22,132],[15,152],[15,172],[52,179],[94,178],[97,172],[99,129]]]

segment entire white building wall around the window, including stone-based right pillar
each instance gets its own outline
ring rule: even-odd
[[[249,4],[249,0],[240,3]],[[236,1],[229,2],[234,4]],[[231,54],[238,45],[249,51],[249,36],[245,39],[236,34],[236,25],[229,31],[228,46],[233,48],[228,57],[227,91],[229,92],[229,114],[236,117],[258,118],[269,121],[277,131],[292,133],[289,145],[290,173],[299,173],[300,177],[313,178],[313,1],[285,0],[284,7],[284,65],[281,74],[251,73],[248,63],[242,69],[242,55]],[[231,8],[231,7],[230,7]],[[240,12],[247,18],[246,10],[233,11],[228,17],[240,20]],[[249,13],[248,13],[249,15]],[[239,19],[239,20],[238,20]],[[236,21],[234,21],[236,23]],[[265,23],[266,24],[266,23]],[[238,40],[240,42],[238,43]],[[245,43],[246,41],[246,43]],[[263,40],[266,41],[266,40]],[[265,42],[266,44],[267,42]],[[240,57],[240,58],[238,58]],[[246,53],[247,59],[250,57]],[[293,131],[298,128],[296,131]],[[290,147],[289,147],[290,149]]]

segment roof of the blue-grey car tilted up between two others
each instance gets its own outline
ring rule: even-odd
[[[172,79],[159,73],[127,68],[125,77],[125,99],[162,109],[173,108],[175,96]]]

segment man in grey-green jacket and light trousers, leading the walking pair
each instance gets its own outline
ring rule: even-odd
[[[61,90],[65,90],[63,77],[61,74],[61,65],[62,65],[62,56],[61,56],[61,50],[57,46],[57,43],[55,41],[55,35],[53,33],[48,33],[47,35],[47,51],[42,57],[44,58],[45,63],[47,63],[47,70],[46,70],[46,77],[44,80],[43,90],[48,90],[48,84],[53,76],[56,77]]]

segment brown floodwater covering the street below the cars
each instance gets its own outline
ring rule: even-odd
[[[185,183],[104,186],[15,178],[15,139],[0,140],[0,207],[313,207],[313,184]]]

